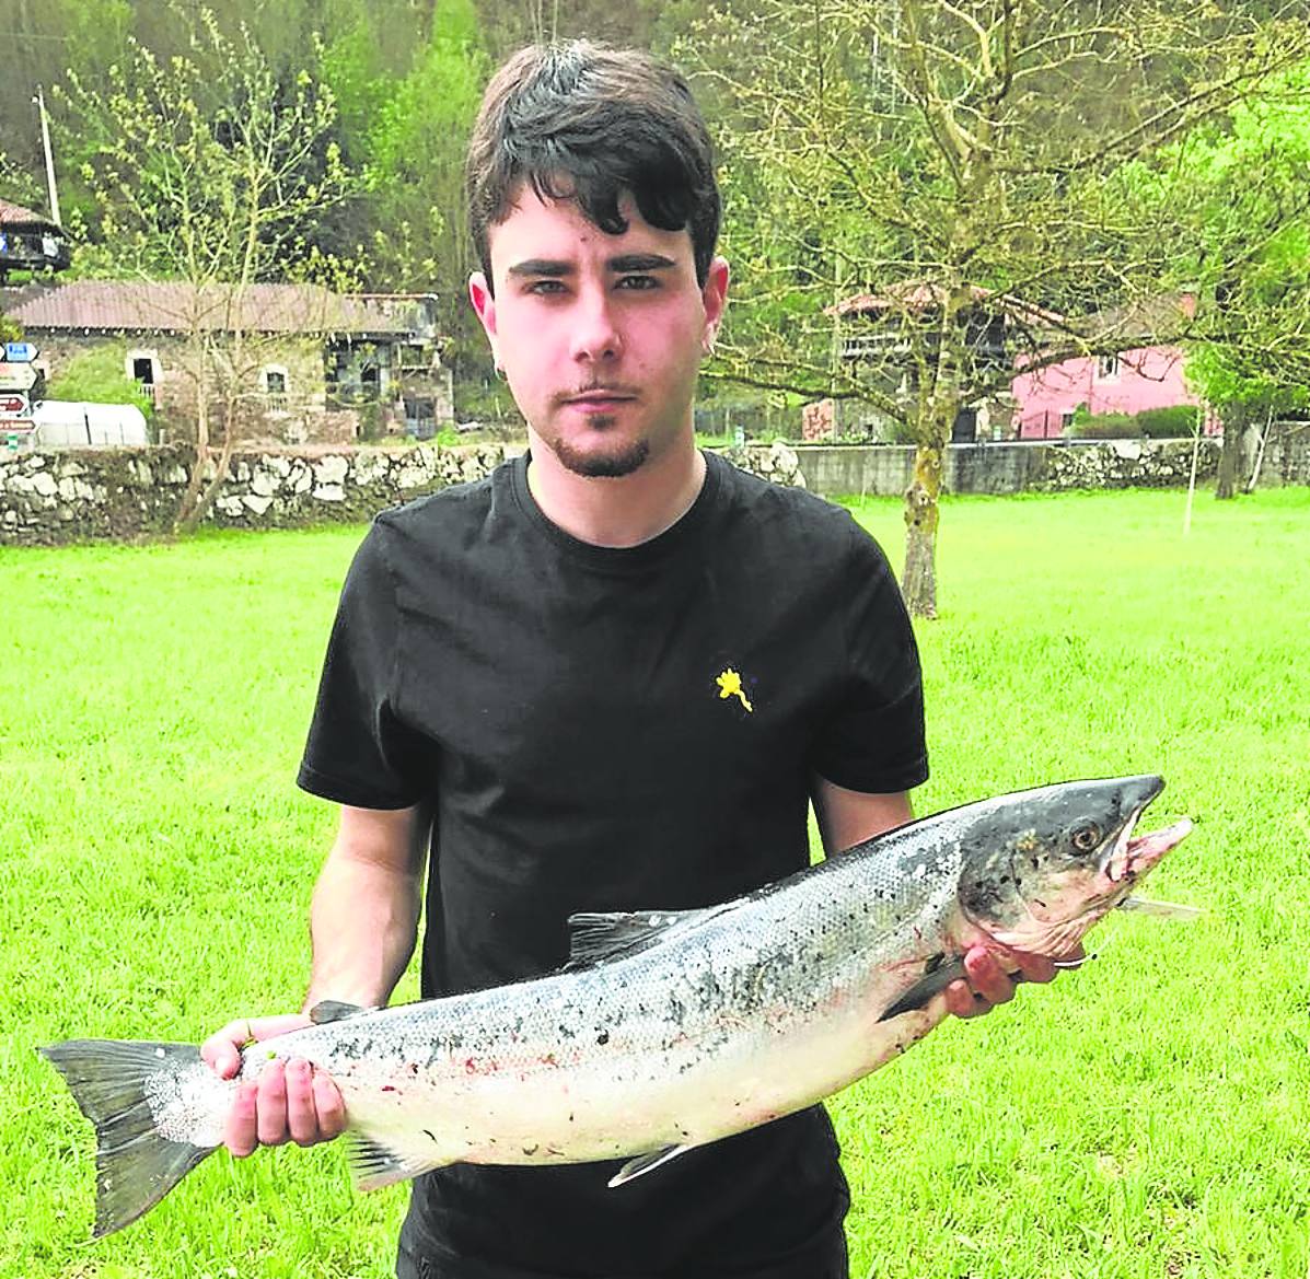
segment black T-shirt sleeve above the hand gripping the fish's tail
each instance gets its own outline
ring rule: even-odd
[[[397,715],[401,617],[375,524],[346,575],[296,784],[358,808],[397,809],[424,795],[431,744]]]

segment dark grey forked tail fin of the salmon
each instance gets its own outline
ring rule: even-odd
[[[38,1051],[96,1125],[94,1238],[148,1212],[215,1149],[162,1136],[152,1106],[161,1077],[202,1064],[195,1045],[68,1039]]]

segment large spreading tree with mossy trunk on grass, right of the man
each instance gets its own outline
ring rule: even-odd
[[[1256,21],[1172,0],[762,0],[677,48],[723,118],[739,267],[711,376],[858,398],[901,425],[914,614],[937,611],[962,410],[1003,399],[1017,361],[1141,346],[1146,314],[1154,340],[1193,333],[1189,308],[1161,323],[1158,305],[1204,292],[1161,233],[1186,183],[1136,165],[1307,51],[1301,5]]]

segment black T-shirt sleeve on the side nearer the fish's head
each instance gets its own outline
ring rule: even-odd
[[[927,779],[918,647],[887,556],[854,520],[837,590],[846,668],[814,768],[849,791],[908,791]]]

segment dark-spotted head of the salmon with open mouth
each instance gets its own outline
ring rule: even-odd
[[[963,839],[959,902],[996,941],[1032,954],[1069,954],[1191,830],[1186,818],[1134,835],[1165,788],[1144,775],[1002,796]]]

